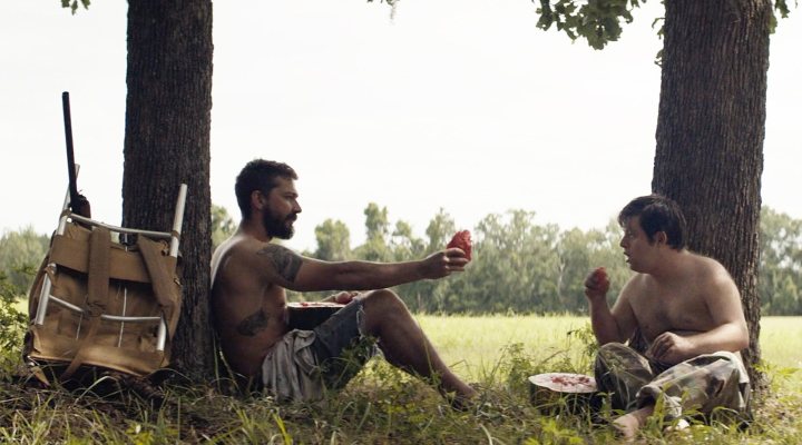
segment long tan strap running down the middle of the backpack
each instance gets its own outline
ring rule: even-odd
[[[106,312],[109,289],[109,257],[111,256],[111,234],[105,227],[95,227],[89,237],[89,278],[87,283],[87,303],[85,314],[89,319],[87,332],[78,343],[76,355],[72,357],[60,379],[66,380],[75,374],[84,363],[85,346],[95,337],[100,325],[100,315]]]

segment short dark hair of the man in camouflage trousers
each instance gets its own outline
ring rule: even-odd
[[[618,224],[625,227],[633,217],[640,218],[640,228],[649,241],[654,241],[656,233],[665,231],[668,246],[676,250],[685,248],[685,216],[673,199],[657,194],[635,198],[618,214]]]

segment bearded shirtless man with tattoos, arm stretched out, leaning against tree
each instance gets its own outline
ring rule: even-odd
[[[436,383],[458,404],[472,398],[475,390],[440,359],[403,301],[384,289],[462,271],[464,253],[450,248],[393,264],[302,257],[271,243],[293,235],[301,212],[295,179],[287,165],[262,159],[236,179],[242,221],[212,258],[215,328],[232,368],[280,399],[316,399],[356,374],[375,352],[375,339],[391,364]],[[349,291],[327,298],[344,308],[314,330],[297,330],[287,326],[285,289]]]

